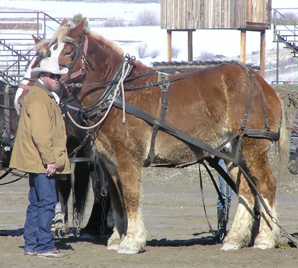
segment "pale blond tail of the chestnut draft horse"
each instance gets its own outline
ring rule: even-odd
[[[282,109],[282,118],[281,118],[281,124],[280,124],[280,130],[279,130],[279,141],[278,141],[278,147],[279,147],[279,174],[281,175],[281,171],[283,168],[287,166],[288,158],[289,158],[289,139],[286,129],[286,115],[285,115],[285,108],[284,103],[281,100],[280,96],[277,94],[281,109]]]

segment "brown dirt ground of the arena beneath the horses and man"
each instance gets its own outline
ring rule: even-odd
[[[291,126],[298,107],[298,90],[279,86]],[[290,132],[289,132],[290,135]],[[274,174],[277,174],[276,154],[270,152]],[[203,172],[204,198],[208,218],[217,228],[216,191]],[[2,179],[0,182],[9,181]],[[146,252],[122,255],[106,249],[107,240],[87,240],[69,235],[56,240],[56,246],[71,255],[68,260],[45,260],[23,255],[23,224],[28,204],[27,179],[0,186],[0,267],[297,267],[298,249],[281,237],[278,247],[270,250],[244,248],[221,251],[214,240],[202,206],[198,165],[185,169],[147,168],[143,179],[143,212],[148,231]],[[85,216],[89,217],[93,196],[90,191]],[[71,199],[71,198],[70,198]],[[285,169],[278,179],[277,212],[281,226],[290,234],[298,234],[298,177]],[[71,204],[71,200],[70,200]],[[232,222],[237,205],[233,194],[230,209]],[[71,207],[71,206],[70,206]],[[71,211],[70,211],[71,214]]]

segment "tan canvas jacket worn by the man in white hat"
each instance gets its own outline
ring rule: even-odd
[[[38,174],[46,173],[46,164],[54,162],[57,174],[71,172],[61,109],[52,93],[37,82],[22,107],[9,167]]]

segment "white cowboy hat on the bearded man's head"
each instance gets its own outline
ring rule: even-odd
[[[40,67],[35,67],[31,70],[31,78],[38,78],[42,72],[52,73],[56,75],[65,75],[69,71],[68,68],[59,69],[59,63],[56,58],[48,57],[40,62]]]

